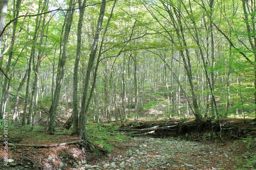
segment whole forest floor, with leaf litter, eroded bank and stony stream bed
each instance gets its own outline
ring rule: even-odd
[[[223,119],[221,124],[143,120],[89,126],[88,132],[90,141],[100,140],[92,145],[79,142],[70,131],[51,135],[39,129],[10,130],[10,138],[22,140],[7,152],[1,145],[0,169],[256,169],[256,122],[252,119],[246,123]],[[110,135],[108,139],[105,134]],[[58,146],[50,145],[55,143]],[[3,161],[6,153],[14,161],[8,166]]]

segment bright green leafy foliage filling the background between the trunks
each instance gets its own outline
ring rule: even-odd
[[[8,9],[10,9],[10,12],[7,14],[7,20],[15,18],[12,12],[12,10],[14,10],[12,9],[14,7],[13,3],[15,3],[15,1],[9,3]],[[39,3],[39,1],[34,2],[35,6],[32,7],[30,14],[37,14],[37,5],[39,5]],[[93,3],[98,2],[90,2],[90,4]],[[125,105],[126,111],[129,108],[132,109],[133,112],[133,109],[135,109],[135,63],[131,58],[136,58],[136,66],[138,68],[138,93],[140,94],[138,101],[142,109],[150,109],[157,106],[159,113],[161,112],[168,115],[169,112],[167,110],[169,110],[169,107],[172,107],[171,112],[175,117],[187,117],[191,115],[190,108],[190,113],[187,114],[185,93],[180,89],[178,90],[179,85],[177,83],[178,80],[179,84],[186,92],[188,102],[191,104],[192,93],[187,79],[187,72],[184,69],[184,66],[187,67],[191,64],[192,81],[195,86],[201,113],[208,111],[211,107],[208,106],[210,105],[211,92],[205,76],[205,71],[207,70],[211,83],[214,83],[214,93],[221,116],[226,115],[226,113],[228,116],[234,116],[237,111],[239,112],[238,115],[241,116],[242,104],[245,109],[245,115],[249,117],[254,116],[255,88],[253,81],[255,68],[253,64],[250,64],[239,52],[245,54],[251,61],[254,60],[253,50],[249,47],[250,41],[248,41],[248,35],[254,37],[255,31],[251,30],[248,32],[246,23],[250,25],[253,23],[250,19],[255,11],[252,10],[251,13],[248,14],[250,19],[246,21],[244,19],[242,6],[231,5],[232,3],[237,3],[236,1],[227,1],[225,8],[220,4],[220,6],[214,6],[212,9],[209,8],[209,6],[203,8],[204,5],[201,3],[202,1],[174,1],[172,8],[166,10],[163,4],[165,4],[166,7],[169,6],[167,1],[117,2],[106,35],[104,35],[104,37],[102,34],[100,35],[104,40],[100,53],[100,59],[102,60],[100,60],[98,67],[96,90],[93,94],[95,95],[93,96],[93,102],[97,103],[96,105],[98,106],[97,109],[92,108],[90,110],[96,110],[96,112],[100,110],[99,114],[102,114],[104,112],[102,110],[104,110],[107,105],[112,105],[110,108],[114,108],[114,103],[116,102],[117,105],[120,106],[122,103],[121,100],[119,100],[121,99],[120,94],[124,93],[124,95],[126,95],[125,98],[128,96],[128,98],[130,98],[130,103],[127,102]],[[30,2],[23,1],[19,14],[26,14],[27,7],[30,5]],[[113,2],[108,2],[101,33],[104,32],[103,30],[110,17],[112,5]],[[233,11],[234,6],[237,8],[236,12]],[[40,8],[41,12],[45,12],[45,10],[47,11],[48,9],[67,9],[68,1],[59,3],[50,1],[48,7],[40,6]],[[182,15],[177,17],[177,13],[177,16],[170,18],[171,12],[176,13],[174,11],[176,8],[180,8],[176,12],[183,11]],[[78,98],[81,98],[81,94],[83,93],[83,80],[93,37],[97,29],[96,25],[99,9],[100,4],[85,8],[82,26],[82,52],[78,68]],[[8,99],[6,112],[10,112],[13,109],[17,88],[24,76],[24,70],[27,69],[28,59],[32,53],[35,56],[33,58],[35,60],[32,62],[30,84],[33,84],[32,81],[35,77],[34,64],[36,63],[37,57],[41,56],[38,75],[38,103],[46,109],[50,108],[56,83],[58,61],[61,61],[60,47],[63,42],[63,37],[61,36],[63,35],[63,23],[65,23],[66,14],[67,11],[55,11],[45,15],[26,17],[26,19],[24,18],[24,23],[23,18],[16,20],[16,33],[21,29],[21,26],[24,25],[24,28],[20,30],[20,34],[18,34],[15,39],[13,53],[11,53],[11,50],[8,50],[2,58],[2,61],[0,61],[0,65],[5,67],[8,62],[8,55],[12,54],[10,70],[7,72],[8,75],[11,76],[10,89],[8,89],[11,97]],[[211,14],[212,18],[209,18]],[[38,19],[39,17],[45,17],[46,19],[46,28],[44,30],[42,30],[42,19]],[[76,30],[78,18],[78,10],[76,10],[74,11],[71,34],[67,44],[65,80],[63,80],[61,84],[62,91],[59,101],[60,105],[66,105],[69,108],[72,107],[72,80],[74,60],[76,58]],[[39,26],[36,26],[37,22]],[[229,42],[220,34],[217,27],[211,28],[213,23],[229,37],[230,41],[237,49],[233,47],[230,48]],[[230,23],[232,24],[230,25]],[[12,24],[9,25],[4,34],[11,34],[12,27]],[[37,29],[36,27],[38,28],[38,33],[34,36],[35,30]],[[179,28],[183,28],[184,39],[177,36],[179,31],[181,31]],[[198,43],[195,40],[196,32],[199,35]],[[214,39],[212,39],[211,34]],[[4,43],[9,46],[11,36],[4,37],[4,39],[6,39]],[[42,37],[41,42],[40,37]],[[214,49],[212,49],[213,46],[210,45],[211,40],[214,41]],[[99,43],[99,46],[100,45]],[[35,51],[31,51],[33,47],[35,47]],[[206,60],[206,68],[203,67],[200,50],[202,50],[203,53],[202,57]],[[181,52],[186,52],[184,53],[184,59],[182,59]],[[186,56],[190,56],[191,63],[188,63]],[[167,65],[170,68],[169,70],[166,69]],[[6,70],[4,67],[3,70]],[[13,73],[11,74],[11,72]],[[124,77],[124,82],[120,81],[122,76]],[[226,110],[228,76],[230,81],[230,105],[229,110]],[[174,79],[175,77],[177,80]],[[241,83],[238,83],[238,77]],[[2,77],[2,80],[3,79]],[[1,91],[2,90],[0,90],[0,93]],[[25,93],[26,83],[20,92],[20,96],[24,97]],[[29,95],[31,95],[31,93],[32,88],[30,87]],[[242,99],[240,98],[240,93]],[[114,96],[116,96],[116,98],[114,98]],[[30,98],[30,96],[28,98]],[[19,108],[23,108],[23,105],[24,100],[20,100]],[[91,106],[94,107],[94,105],[90,105],[90,107]],[[179,115],[177,114],[178,110]],[[65,114],[65,111],[60,109],[60,114]],[[88,115],[88,120],[92,120],[93,112],[89,111]],[[111,116],[114,117],[113,115],[114,112],[112,112]],[[133,113],[131,113],[130,116],[134,117]],[[105,115],[101,115],[101,117],[105,117]]]

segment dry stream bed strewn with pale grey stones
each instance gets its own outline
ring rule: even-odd
[[[240,143],[239,143],[240,142]],[[242,143],[241,143],[242,142]],[[255,152],[255,143],[250,148],[243,141],[228,143],[197,142],[174,138],[134,137],[115,143],[115,150],[108,156],[98,157],[94,161],[73,160],[68,168],[60,160],[58,168],[47,169],[254,169],[256,164],[246,164],[250,153]],[[47,159],[50,159],[49,157]],[[63,158],[62,158],[63,159]],[[53,160],[52,160],[53,161]],[[63,163],[64,162],[64,163]],[[0,165],[5,170],[27,170],[30,165]],[[56,163],[53,162],[53,163]],[[34,168],[36,169],[36,167]],[[38,169],[38,168],[37,168]],[[46,168],[44,168],[46,169]]]

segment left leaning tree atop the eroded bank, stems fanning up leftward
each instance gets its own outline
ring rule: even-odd
[[[172,1],[168,2],[168,1],[161,1],[160,2],[163,6],[163,8],[160,8],[159,10],[152,7],[153,10],[155,10],[156,12],[160,13],[160,17],[163,17],[171,26],[172,28],[175,30],[176,33],[176,37],[174,37],[174,35],[169,34],[167,29],[163,26],[163,24],[160,22],[160,19],[158,18],[158,16],[156,16],[149,8],[147,8],[147,10],[152,14],[152,16],[157,20],[157,22],[159,23],[159,25],[166,30],[166,32],[168,33],[168,39],[175,44],[177,50],[179,50],[179,55],[182,58],[182,64],[184,65],[184,69],[188,78],[188,82],[190,85],[190,91],[191,91],[191,97],[192,97],[192,101],[193,101],[193,106],[194,106],[194,115],[196,117],[197,120],[201,120],[202,119],[202,115],[199,109],[199,105],[197,102],[197,95],[195,93],[195,86],[194,86],[194,82],[193,82],[193,72],[191,69],[191,56],[190,56],[190,52],[188,50],[188,43],[187,43],[187,39],[185,36],[185,27],[184,22],[183,22],[183,15],[182,15],[182,1],[178,1],[177,5],[175,5],[175,3],[173,3]],[[157,5],[158,6],[158,5]],[[163,10],[163,11],[160,11]],[[169,18],[166,18],[164,14],[162,14],[162,12],[166,12],[166,14],[168,15]]]

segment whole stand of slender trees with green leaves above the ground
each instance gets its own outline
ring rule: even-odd
[[[89,142],[109,123],[136,136],[193,119],[216,125],[223,141],[223,121],[256,125],[255,0],[0,4],[0,138],[41,127]],[[147,120],[161,125],[129,129]]]

